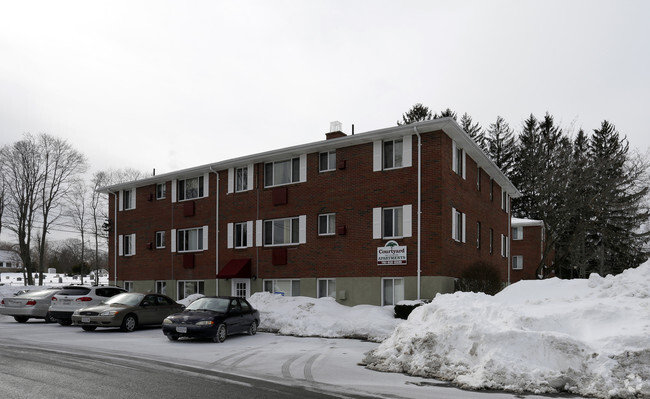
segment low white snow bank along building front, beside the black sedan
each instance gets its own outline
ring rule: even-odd
[[[334,298],[286,297],[258,292],[249,301],[260,311],[260,328],[283,335],[381,342],[403,322],[395,319],[392,306],[349,307],[338,304]]]

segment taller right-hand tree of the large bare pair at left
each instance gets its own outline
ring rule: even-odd
[[[40,189],[40,216],[43,228],[39,242],[39,285],[43,284],[45,242],[47,233],[64,212],[61,201],[66,198],[76,178],[86,170],[85,157],[66,140],[45,133],[38,136],[38,150],[42,162]]]

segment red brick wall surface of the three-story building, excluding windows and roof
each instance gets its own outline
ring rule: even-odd
[[[500,255],[500,235],[507,234],[507,214],[501,210],[501,189],[494,184],[490,201],[490,178],[482,171],[481,190],[476,188],[477,166],[467,157],[467,179],[451,169],[452,141],[442,132],[422,136],[422,275],[459,277],[465,267],[485,260],[507,276],[507,261]],[[228,171],[219,171],[219,267],[228,261],[251,258],[252,274],[258,278],[307,277],[405,277],[417,274],[417,136],[413,136],[411,167],[374,172],[373,144],[336,150],[345,169],[318,171],[318,153],[307,155],[307,182],[287,185],[287,204],[274,205],[273,189],[264,188],[263,163],[254,166],[254,189],[228,194]],[[299,154],[296,154],[298,156]],[[241,165],[245,166],[245,165]],[[193,176],[187,176],[193,177]],[[250,179],[250,178],[249,178]],[[216,277],[215,215],[217,176],[210,174],[210,196],[195,200],[195,215],[183,216],[183,202],[167,198],[149,201],[155,185],[137,189],[136,209],[118,212],[117,234],[137,235],[136,255],[118,257],[118,279],[211,279]],[[111,196],[112,197],[112,196]],[[396,240],[408,247],[406,266],[378,266],[377,247],[387,240],[372,238],[375,207],[412,205],[412,237]],[[110,214],[114,202],[110,201]],[[451,236],[451,208],[467,214],[467,240]],[[336,225],[346,234],[319,237],[318,215],[336,213]],[[307,216],[307,243],[288,247],[287,264],[272,265],[272,249],[227,248],[227,224]],[[481,221],[481,248],[476,248],[476,222]],[[196,253],[195,266],[183,267],[182,254],[171,253],[171,229],[209,226],[208,250]],[[493,253],[489,253],[489,228],[494,229]],[[155,232],[166,231],[166,248],[155,249]],[[112,273],[113,232],[109,269]],[[255,235],[253,235],[255,243]],[[151,242],[154,249],[147,249]],[[112,276],[111,276],[112,277]]]

